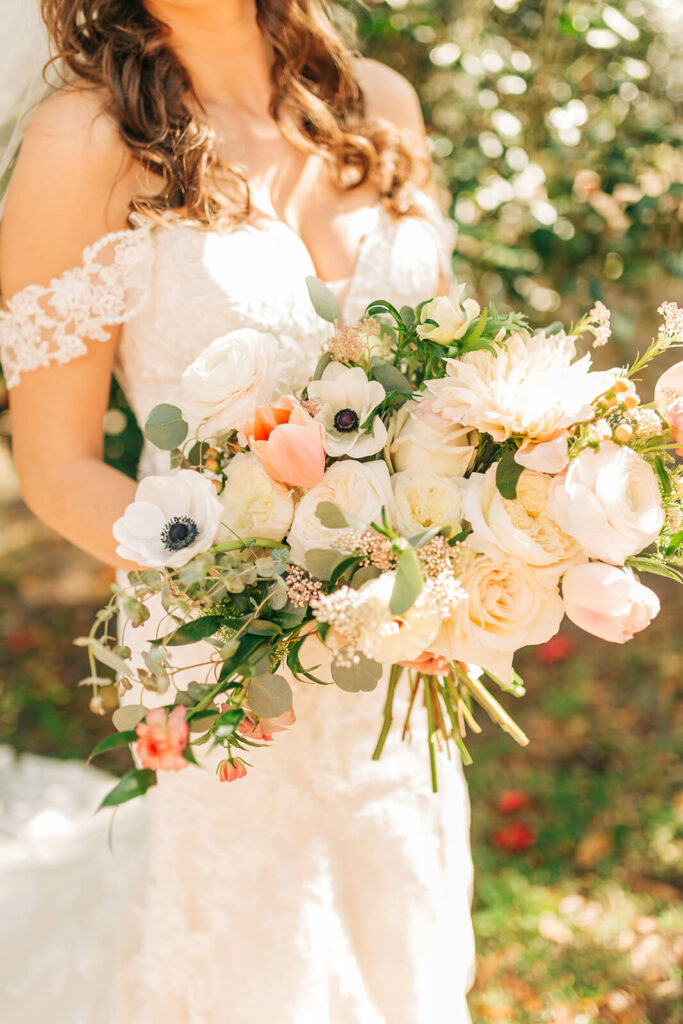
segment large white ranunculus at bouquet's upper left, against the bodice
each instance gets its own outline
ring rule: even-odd
[[[180,406],[203,438],[238,430],[273,398],[281,352],[274,335],[253,328],[216,338],[185,370]]]

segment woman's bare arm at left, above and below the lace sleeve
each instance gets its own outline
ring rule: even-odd
[[[78,266],[83,249],[126,226],[134,169],[94,93],[62,93],[29,126],[0,230],[4,300]],[[13,453],[29,507],[110,565],[112,525],[135,483],[102,462],[103,417],[120,329],[86,355],[25,373],[10,391]]]

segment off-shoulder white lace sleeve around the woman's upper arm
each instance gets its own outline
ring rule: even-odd
[[[83,253],[80,266],[49,285],[29,285],[0,310],[0,358],[8,387],[22,374],[84,355],[89,340],[109,341],[111,328],[142,306],[152,268],[152,225],[106,234]]]

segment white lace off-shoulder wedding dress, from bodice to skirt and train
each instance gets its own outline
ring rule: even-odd
[[[446,225],[430,199],[416,199],[421,216],[394,220],[379,204],[365,211],[355,271],[338,283],[347,323],[374,297],[416,303],[434,293],[439,269],[447,272]],[[123,324],[117,374],[143,422],[156,403],[177,400],[182,371],[206,345],[253,326],[281,339],[281,383],[292,389],[329,335],[304,284],[313,272],[302,241],[280,222],[207,233],[138,218],[86,250],[81,266],[8,303],[0,314],[8,383],[77,357],[84,338],[105,340],[108,327]],[[166,456],[145,449],[141,473],[166,465]],[[127,642],[140,646],[158,628],[153,615]],[[45,1008],[46,978],[61,985],[63,1006],[65,992],[74,998],[59,1024],[469,1021],[472,865],[462,767],[457,756],[440,756],[440,793],[432,795],[421,709],[412,742],[399,739],[404,696],[382,759],[373,762],[384,696],[382,685],[349,694],[296,683],[296,725],[255,752],[246,779],[219,783],[189,766],[164,775],[145,798],[141,867],[142,839],[137,847],[131,839],[144,831],[139,812],[131,818],[124,809],[115,820],[112,853],[101,827],[87,833],[82,859],[99,866],[94,877],[82,872],[80,889],[74,880],[72,939],[78,934],[92,955],[104,929],[106,958],[90,965],[91,987],[100,980],[87,998],[81,972],[79,1001],[63,924],[40,937],[42,975],[34,969],[31,977],[43,978]],[[92,788],[100,795],[99,777]],[[37,804],[44,812],[44,797]],[[22,813],[31,817],[26,800]],[[38,833],[33,847],[29,833],[28,849]],[[11,835],[15,847],[16,829]],[[25,882],[30,888],[30,876]],[[65,912],[69,906],[55,916],[63,922]],[[126,948],[114,935],[121,919]],[[17,981],[26,964],[12,956],[17,948],[29,955],[31,937],[20,923],[12,927],[5,926],[0,953],[15,964],[12,990],[28,1010],[8,1020],[43,1024],[40,997],[34,991],[32,1002],[31,985]]]

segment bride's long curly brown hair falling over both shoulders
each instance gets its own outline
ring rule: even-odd
[[[161,178],[158,194],[135,197],[131,212],[159,221],[181,216],[205,227],[244,221],[249,183],[217,156],[215,133],[168,43],[168,27],[142,0],[42,0],[42,11],[56,46],[53,60],[104,89],[126,146]],[[400,132],[367,120],[351,51],[323,0],[256,0],[256,12],[270,67],[269,113],[284,136],[321,154],[339,188],[370,180],[392,213],[408,212],[403,186],[419,162]]]

